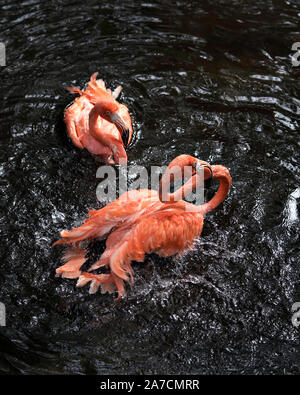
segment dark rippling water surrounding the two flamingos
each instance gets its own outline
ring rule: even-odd
[[[1,5],[1,372],[299,373],[299,3]],[[95,71],[124,86],[130,163],[187,153],[233,178],[195,250],[135,267],[119,303],[55,278],[51,248],[101,207],[98,164],[62,122],[63,85]]]

